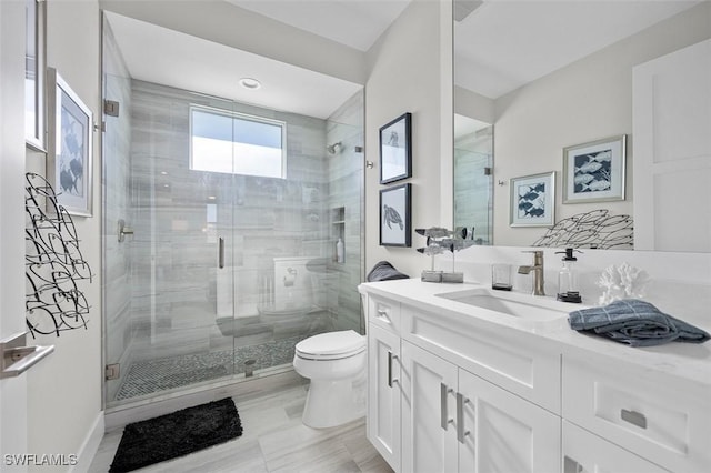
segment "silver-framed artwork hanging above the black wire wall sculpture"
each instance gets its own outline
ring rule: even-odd
[[[48,181],[67,212],[91,217],[93,115],[56,69],[48,68],[47,84]]]

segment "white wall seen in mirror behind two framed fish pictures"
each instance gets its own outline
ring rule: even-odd
[[[544,230],[509,227],[509,179],[557,171],[555,220],[599,209],[600,203],[562,204],[562,149],[628,134],[627,198],[605,202],[632,214],[632,68],[711,37],[711,2],[590,54],[495,101],[494,242],[532,244]]]

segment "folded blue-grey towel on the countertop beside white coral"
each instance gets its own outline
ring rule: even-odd
[[[568,323],[573,330],[591,330],[631,346],[661,345],[672,341],[703,343],[711,338],[705,331],[635,299],[573,311]]]

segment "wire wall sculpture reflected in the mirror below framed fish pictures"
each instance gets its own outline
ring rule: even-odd
[[[632,250],[634,225],[630,215],[611,215],[607,209],[593,210],[555,223],[533,246]]]

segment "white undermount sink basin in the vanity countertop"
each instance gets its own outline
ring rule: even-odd
[[[442,293],[437,296],[534,322],[558,321],[579,308],[577,304],[568,304],[550,298],[493,291],[485,288]]]

